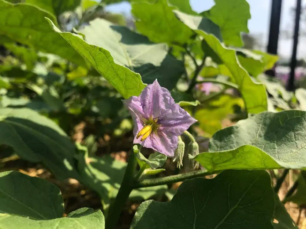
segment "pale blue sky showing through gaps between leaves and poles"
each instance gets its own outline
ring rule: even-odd
[[[187,1],[187,0],[181,0]],[[256,37],[261,37],[263,44],[267,43],[269,26],[270,26],[270,11],[272,0],[247,0],[250,4],[250,11],[252,18],[248,21],[248,28],[251,34]],[[296,4],[295,0],[283,0],[282,1],[282,17],[281,17],[281,29],[290,29],[293,31],[293,17],[290,15],[290,8]],[[196,12],[202,12],[203,10],[210,9],[214,5],[214,0],[190,0],[190,5]],[[131,6],[127,2],[120,4],[114,4],[108,7],[110,11],[117,13],[130,14]],[[298,57],[306,57],[306,46],[302,45],[304,40],[300,40],[298,46]],[[278,54],[280,56],[289,58],[292,50],[292,40],[280,39],[278,42]],[[304,46],[304,47],[303,47]]]

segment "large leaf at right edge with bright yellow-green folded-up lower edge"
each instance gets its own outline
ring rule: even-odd
[[[297,110],[254,115],[215,133],[195,160],[208,170],[305,168],[305,120]]]

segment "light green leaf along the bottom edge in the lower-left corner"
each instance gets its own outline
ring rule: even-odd
[[[67,217],[52,220],[37,220],[21,216],[0,214],[1,229],[96,229],[105,227],[101,210],[81,208],[68,214]]]

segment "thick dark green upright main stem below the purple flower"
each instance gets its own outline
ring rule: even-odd
[[[120,185],[120,189],[118,191],[118,194],[116,196],[115,201],[110,205],[110,208],[108,210],[108,217],[106,218],[105,227],[107,229],[113,229],[116,227],[116,224],[118,222],[120,213],[123,209],[123,207],[126,204],[126,201],[129,198],[130,193],[133,190],[133,183],[134,183],[134,173],[136,169],[137,161],[136,161],[136,155],[132,151],[129,162],[125,170],[125,174],[122,180],[122,183]]]

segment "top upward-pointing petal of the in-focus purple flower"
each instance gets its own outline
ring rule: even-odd
[[[141,101],[144,117],[158,118],[166,113],[174,104],[174,99],[168,89],[161,87],[157,80],[141,92],[139,99]]]

